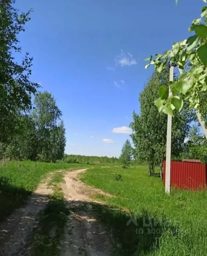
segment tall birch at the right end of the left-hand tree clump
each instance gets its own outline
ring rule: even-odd
[[[51,93],[39,92],[34,99],[35,109],[32,118],[35,122],[36,150],[40,161],[61,159],[65,148],[65,129],[63,122],[58,125],[61,111]]]

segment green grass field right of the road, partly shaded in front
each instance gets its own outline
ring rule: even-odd
[[[121,174],[122,180],[115,180]],[[93,168],[81,180],[113,197],[94,210],[113,233],[116,256],[200,256],[207,252],[207,191],[172,190],[165,195],[159,177],[147,167]],[[127,222],[131,216],[137,226]],[[151,224],[151,225],[150,225]]]

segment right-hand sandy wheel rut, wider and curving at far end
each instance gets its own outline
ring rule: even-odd
[[[78,175],[85,172],[81,169],[66,173],[65,183],[61,184],[67,200],[67,207],[71,210],[65,232],[61,256],[109,256],[111,247],[108,235],[99,220],[94,216],[90,196],[102,194],[111,196],[99,189],[86,186]]]

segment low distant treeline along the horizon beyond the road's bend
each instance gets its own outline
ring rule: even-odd
[[[82,155],[67,155],[63,157],[63,161],[67,163],[118,163],[119,158],[107,156],[82,156]]]

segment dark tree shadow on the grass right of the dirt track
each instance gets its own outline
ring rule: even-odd
[[[133,216],[103,204],[78,201],[74,203],[78,207],[71,210],[79,213],[82,219],[87,217],[87,211],[83,209],[87,209],[88,206],[92,207],[94,216],[111,234],[112,255],[149,255],[150,252],[159,248],[159,239],[163,232],[170,231],[173,236],[178,233],[178,230],[171,223],[167,223],[164,217],[162,221],[159,221],[146,210],[143,210],[139,216]]]

